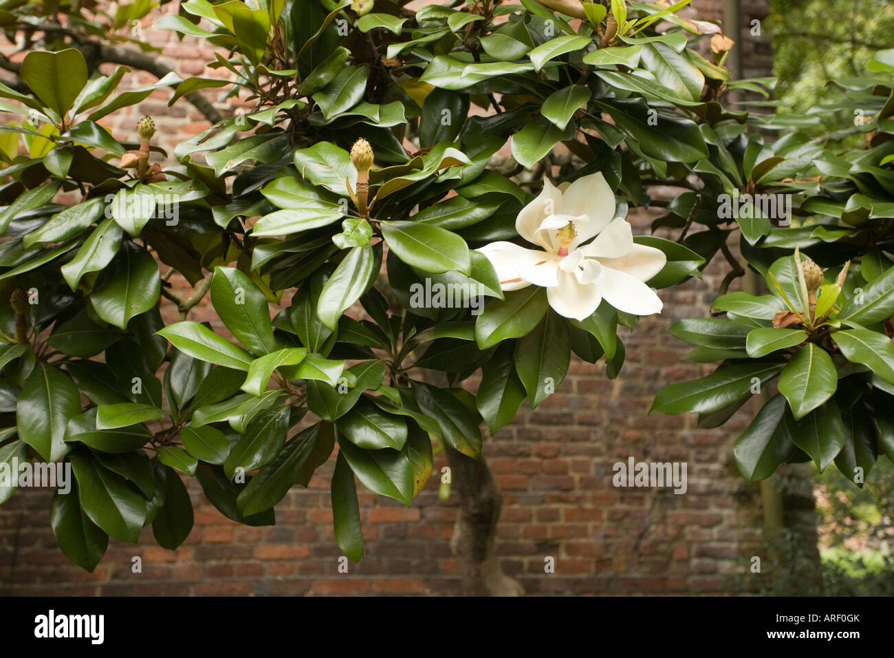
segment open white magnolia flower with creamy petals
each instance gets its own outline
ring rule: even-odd
[[[496,242],[479,249],[493,264],[503,290],[544,286],[550,306],[584,320],[605,301],[635,315],[661,312],[662,301],[645,285],[667,261],[654,247],[634,244],[625,218],[601,173],[544,189],[525,206],[515,229],[544,251]],[[595,235],[595,240],[583,244]]]

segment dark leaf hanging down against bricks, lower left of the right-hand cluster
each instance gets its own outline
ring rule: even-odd
[[[736,466],[748,482],[766,480],[794,454],[795,443],[785,420],[788,408],[785,397],[777,393],[736,440]]]

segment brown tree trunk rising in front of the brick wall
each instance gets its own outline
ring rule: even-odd
[[[502,495],[491,470],[481,457],[471,457],[444,446],[450,459],[451,484],[460,494],[460,509],[451,538],[451,551],[460,567],[460,585],[466,596],[520,596],[525,590],[506,576],[496,553],[497,521]]]

